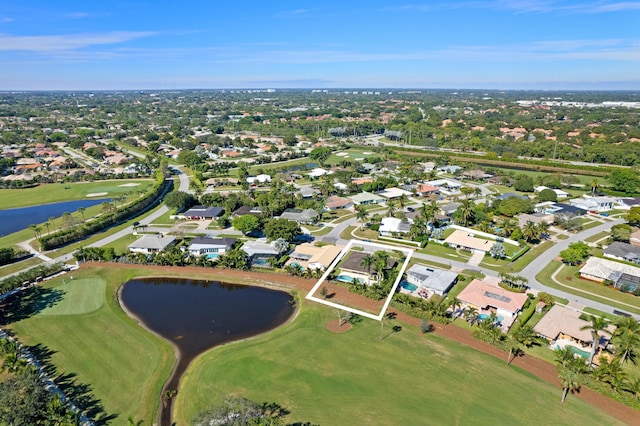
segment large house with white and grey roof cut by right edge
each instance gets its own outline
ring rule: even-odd
[[[590,257],[580,268],[580,278],[609,282],[617,289],[636,292],[640,289],[640,268],[613,260]]]

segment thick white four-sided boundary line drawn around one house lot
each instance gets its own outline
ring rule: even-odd
[[[351,249],[351,247],[353,247],[354,244],[356,244],[358,246],[363,246],[363,247],[372,247],[372,248],[375,248],[375,249],[378,249],[378,250],[384,250],[384,251],[401,251],[406,256],[405,260],[404,260],[404,264],[402,265],[402,269],[400,269],[400,272],[398,273],[398,276],[396,277],[396,281],[393,283],[393,287],[391,288],[391,291],[389,292],[389,295],[387,296],[387,299],[385,300],[384,306],[382,307],[382,310],[380,311],[379,315],[370,314],[369,312],[364,312],[364,311],[360,311],[358,309],[350,308],[348,306],[340,305],[338,303],[333,303],[333,302],[330,302],[330,301],[328,301],[326,299],[321,299],[321,298],[315,297],[313,295],[318,290],[318,288],[322,285],[322,283],[325,282],[325,280],[327,279],[327,277],[329,276],[331,271],[333,271],[335,269],[335,267],[338,265],[338,263],[340,263],[342,258],[349,252],[349,250]],[[332,308],[342,309],[344,311],[348,311],[348,312],[351,312],[353,314],[362,315],[362,316],[367,317],[367,318],[371,318],[371,319],[374,319],[374,320],[377,320],[377,321],[381,321],[382,318],[384,317],[385,312],[387,311],[387,308],[389,307],[389,304],[391,303],[391,298],[393,298],[393,295],[395,294],[396,289],[398,288],[398,284],[402,280],[402,275],[404,274],[405,269],[407,269],[407,265],[409,264],[409,260],[411,259],[412,255],[413,255],[413,250],[410,249],[410,248],[397,247],[397,246],[387,246],[387,245],[384,245],[384,244],[365,242],[365,241],[361,241],[361,240],[350,240],[349,243],[347,244],[347,246],[344,249],[342,249],[340,254],[338,254],[338,257],[336,257],[335,260],[331,263],[331,265],[329,265],[329,267],[324,272],[324,274],[322,274],[322,277],[320,277],[318,282],[309,291],[309,293],[307,294],[305,299],[313,300],[314,302],[322,303],[323,305],[331,306]]]

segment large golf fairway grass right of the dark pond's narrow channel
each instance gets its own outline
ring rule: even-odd
[[[275,402],[291,411],[287,422],[322,425],[619,424],[576,397],[561,404],[560,388],[502,359],[406,324],[383,341],[371,320],[334,334],[326,328],[334,317],[304,306],[272,333],[198,358],[178,392],[177,424],[226,395]]]

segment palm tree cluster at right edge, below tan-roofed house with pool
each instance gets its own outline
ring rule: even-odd
[[[595,387],[605,384],[610,391],[623,396],[631,395],[635,401],[640,399],[640,379],[631,377],[624,368],[631,362],[636,364],[640,354],[640,323],[632,317],[621,317],[614,322],[616,328],[611,333],[611,344],[608,349],[613,356],[601,356],[598,366],[593,365],[597,348],[600,346],[601,332],[607,332],[610,322],[603,318],[591,316],[589,324],[582,327],[588,330],[593,338],[593,345],[588,360],[577,356],[569,347],[556,351],[558,377],[562,385],[562,402],[569,392],[580,389],[583,384]]]

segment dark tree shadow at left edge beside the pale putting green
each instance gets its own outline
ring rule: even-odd
[[[63,299],[64,293],[62,289],[41,286],[16,293],[0,302],[0,324],[21,321],[55,306]]]

